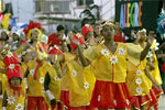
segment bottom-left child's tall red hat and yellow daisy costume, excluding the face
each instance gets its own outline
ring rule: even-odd
[[[7,68],[8,81],[13,77],[19,77],[22,80],[22,72],[19,65],[11,64]],[[21,81],[18,88],[14,88],[10,81],[6,87],[7,92],[7,110],[23,110],[25,103],[25,88],[24,81]]]

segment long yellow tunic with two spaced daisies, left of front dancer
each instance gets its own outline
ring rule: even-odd
[[[89,105],[96,80],[91,67],[82,68],[77,62],[69,61],[67,68],[69,105],[72,107]]]

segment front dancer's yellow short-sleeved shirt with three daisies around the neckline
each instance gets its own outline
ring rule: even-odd
[[[118,43],[117,51],[112,54],[107,46],[99,44],[85,51],[85,56],[95,67],[96,79],[125,82],[127,58],[138,65],[141,51],[139,45]]]

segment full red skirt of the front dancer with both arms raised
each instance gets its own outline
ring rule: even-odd
[[[132,97],[125,82],[96,80],[90,105],[98,109],[131,108]]]

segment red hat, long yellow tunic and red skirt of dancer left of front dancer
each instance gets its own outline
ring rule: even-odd
[[[85,44],[84,37],[74,35],[74,37],[80,43]],[[77,45],[72,43],[72,50],[75,52]],[[67,67],[67,72],[62,79],[62,96],[61,99],[68,107],[68,110],[86,110],[89,108],[95,85],[95,76],[92,67],[82,67],[79,63],[74,61],[75,56],[65,53],[65,63],[63,67]],[[67,84],[66,84],[67,82]],[[64,84],[64,86],[63,86]]]

